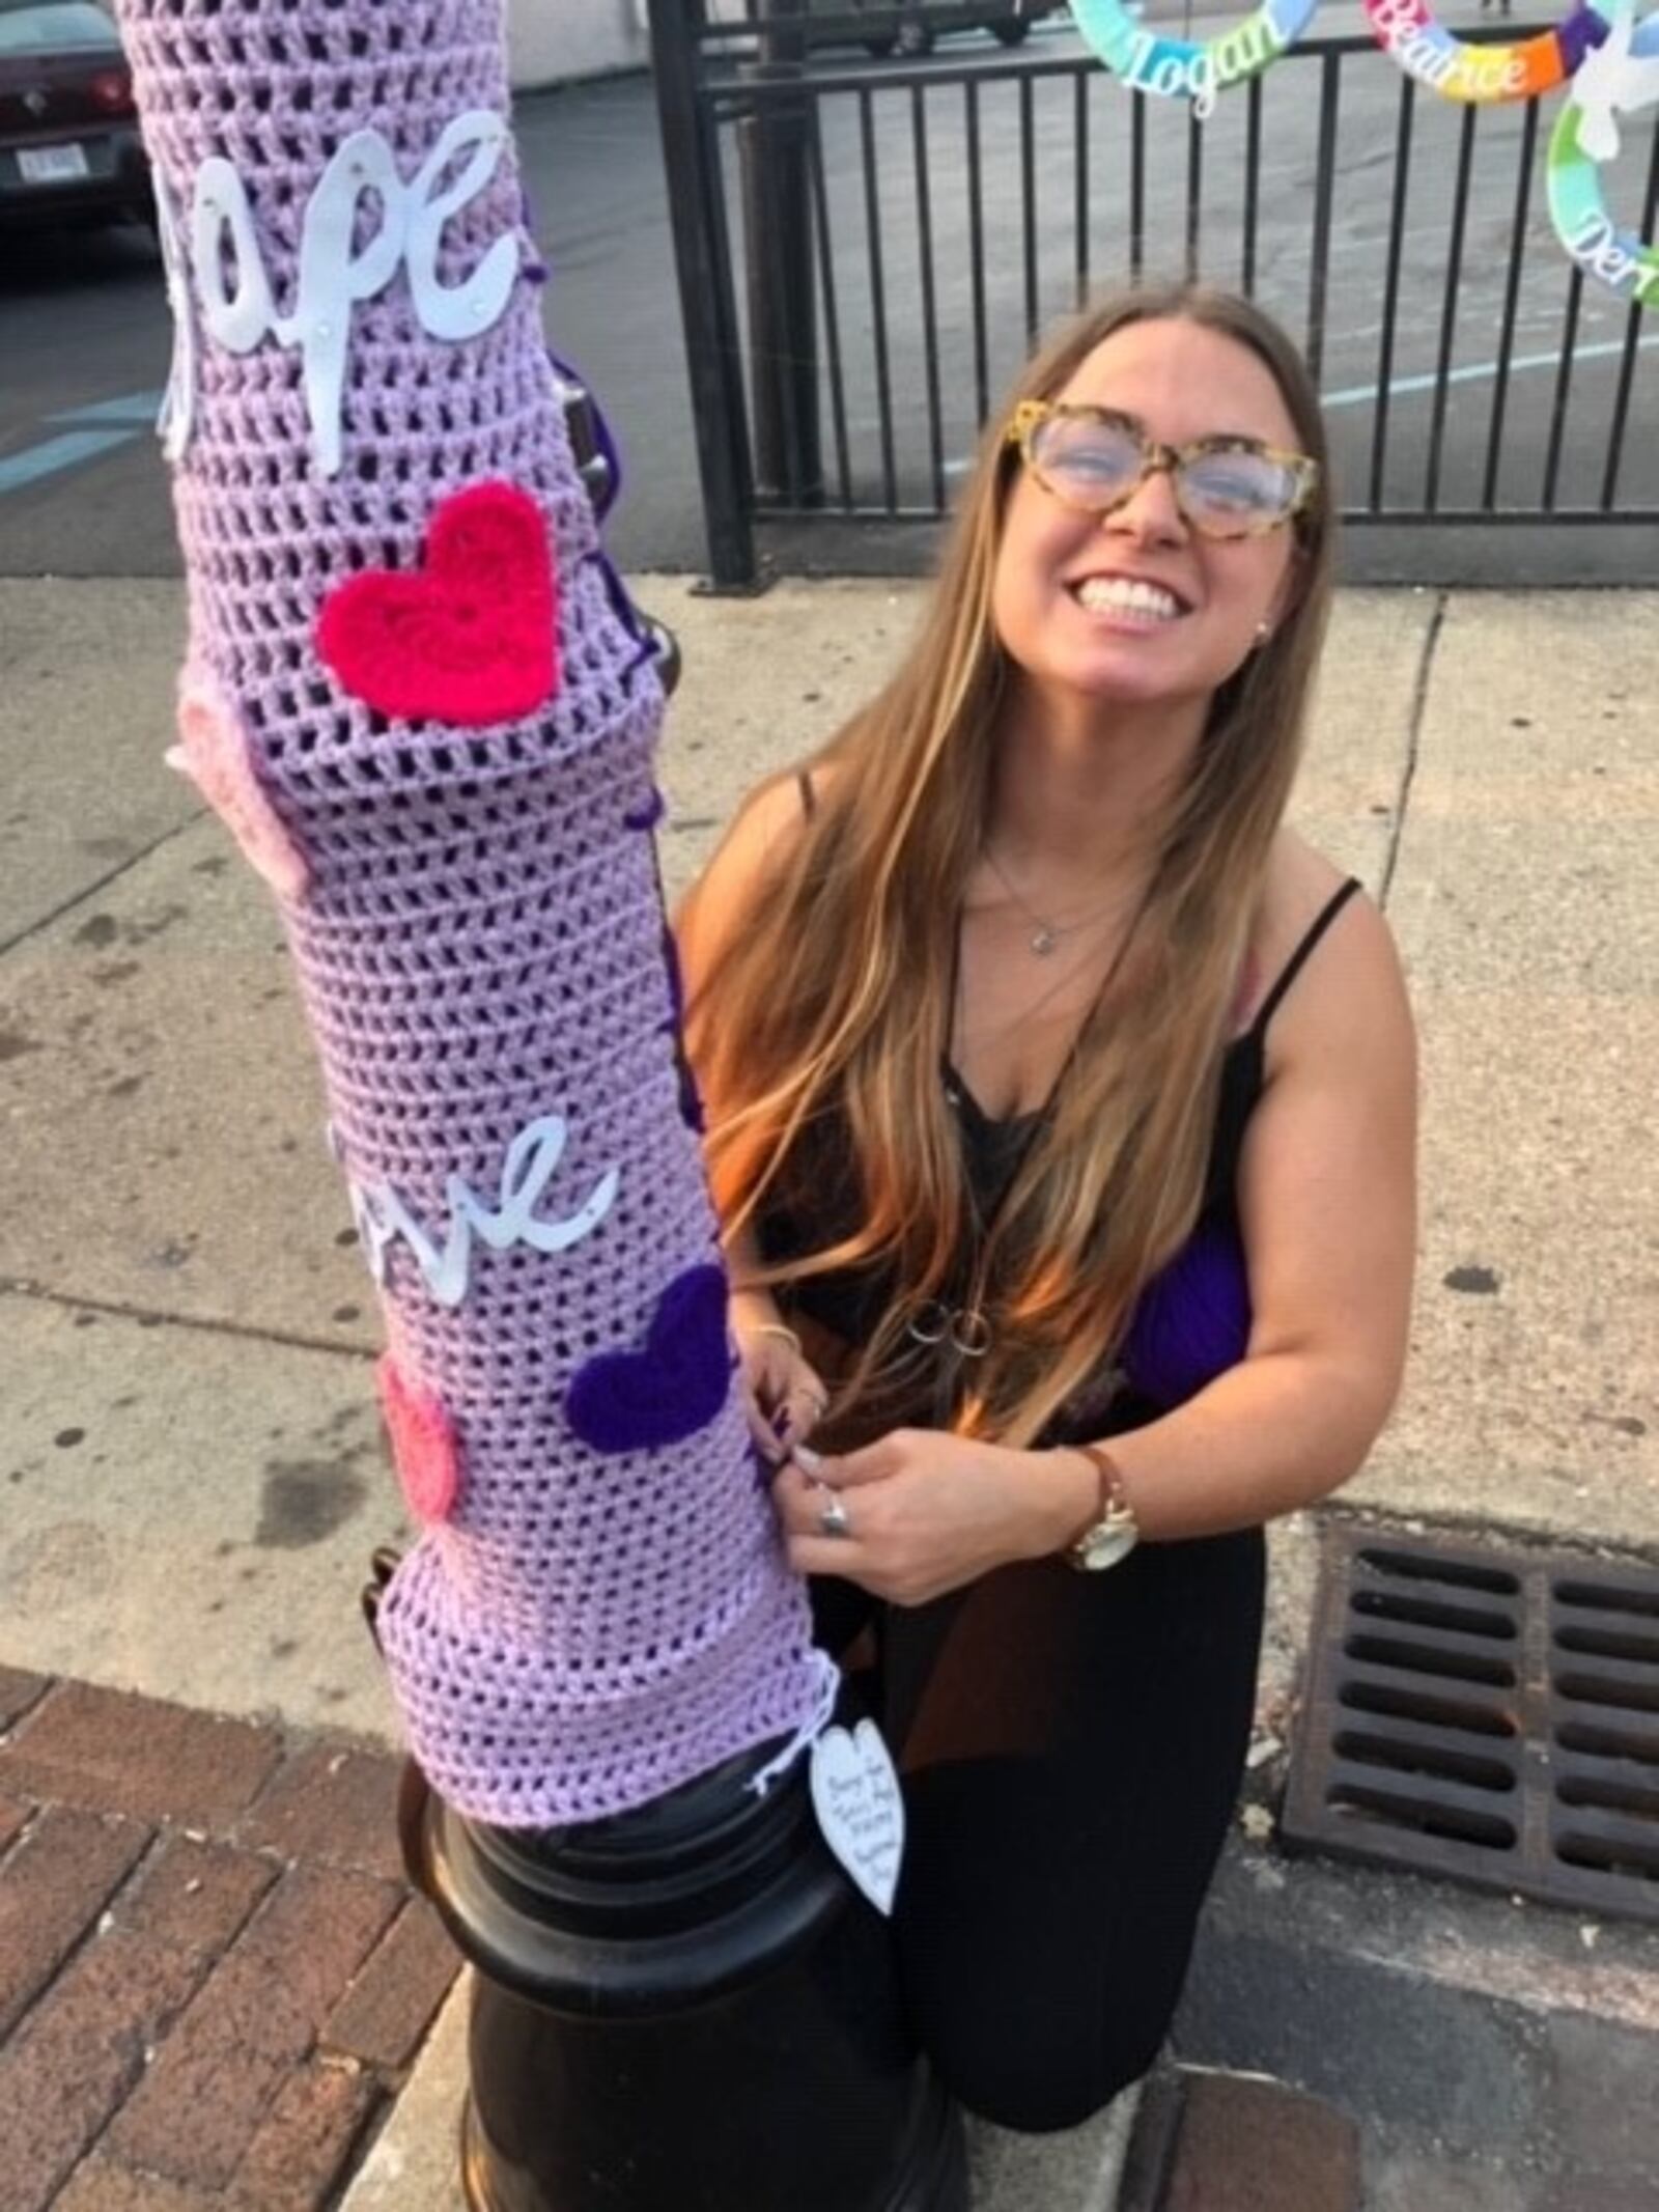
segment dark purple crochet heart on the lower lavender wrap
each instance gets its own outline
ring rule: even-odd
[[[706,1429],[730,1383],[726,1270],[688,1267],[657,1301],[644,1349],[591,1358],[564,1396],[564,1416],[595,1451],[655,1451]]]

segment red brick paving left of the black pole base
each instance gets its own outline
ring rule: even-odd
[[[396,1778],[0,1668],[0,2212],[336,2199],[458,1966]]]

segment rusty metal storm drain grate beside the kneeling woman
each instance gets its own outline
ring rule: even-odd
[[[1283,1836],[1659,1920],[1659,1573],[1329,1524]]]

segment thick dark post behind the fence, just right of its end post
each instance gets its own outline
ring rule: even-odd
[[[757,15],[750,84],[790,86],[739,124],[748,239],[754,482],[790,507],[823,504],[818,314],[812,290],[812,111],[805,91],[807,0],[768,0]]]

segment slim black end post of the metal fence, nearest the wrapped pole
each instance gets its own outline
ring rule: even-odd
[[[708,566],[714,591],[750,591],[757,580],[754,480],[743,416],[732,268],[721,250],[726,210],[719,148],[697,82],[697,31],[706,22],[703,4],[706,0],[650,0],[650,58],[697,427]]]

